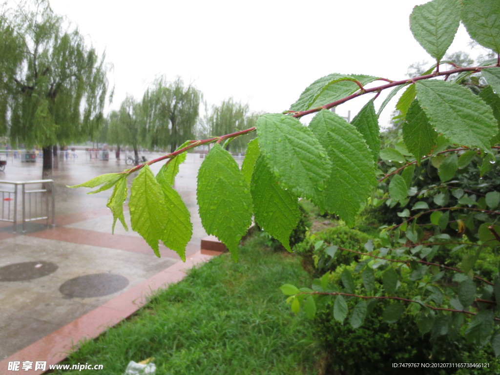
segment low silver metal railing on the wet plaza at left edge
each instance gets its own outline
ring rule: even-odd
[[[26,185],[32,186],[35,184],[40,185],[40,188],[34,188],[31,190],[26,189]],[[13,186],[13,188],[7,188],[2,185]],[[51,219],[52,226],[54,226],[54,181],[51,179],[37,179],[31,181],[0,181],[0,193],[2,197],[0,221],[12,222],[13,232],[16,232],[19,185],[21,185],[20,194],[22,201],[22,231],[26,231],[26,222],[34,220],[46,219],[48,225],[49,219]]]

